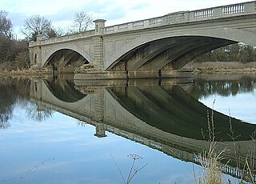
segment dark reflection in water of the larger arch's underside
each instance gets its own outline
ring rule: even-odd
[[[110,94],[137,118],[170,134],[197,140],[209,140],[207,112],[214,114],[215,140],[232,142],[230,138],[230,121],[236,141],[251,140],[250,135],[256,126],[230,118],[215,110],[211,110],[202,102],[198,102],[180,86],[165,89],[163,86],[128,86],[108,88]],[[210,115],[208,115],[209,117]]]

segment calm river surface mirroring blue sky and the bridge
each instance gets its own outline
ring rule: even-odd
[[[256,79],[1,79],[0,102],[0,184],[123,183],[130,154],[140,156],[135,168],[145,166],[131,183],[194,183],[194,172],[202,176],[194,153],[208,145],[207,111],[218,142],[230,142],[229,114],[237,141],[251,141]]]

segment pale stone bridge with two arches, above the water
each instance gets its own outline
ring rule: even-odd
[[[158,78],[221,46],[256,46],[256,1],[182,11],[136,22],[30,42],[32,68],[74,78]]]

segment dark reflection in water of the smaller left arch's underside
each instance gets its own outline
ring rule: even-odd
[[[78,102],[86,97],[79,90],[75,89],[73,80],[45,80],[44,81],[50,92],[62,102]]]

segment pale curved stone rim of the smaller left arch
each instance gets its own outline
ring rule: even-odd
[[[42,67],[46,67],[54,54],[58,53],[58,51],[60,50],[72,50],[73,52],[80,54],[83,58],[86,59],[87,62],[94,61],[94,58],[92,58],[90,54],[88,54],[85,50],[82,50],[81,47],[70,44],[68,46],[56,47],[54,49],[51,49],[46,54],[42,54]]]

